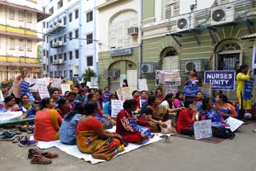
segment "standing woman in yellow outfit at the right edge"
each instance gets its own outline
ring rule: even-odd
[[[238,118],[243,119],[245,114],[245,109],[251,109],[251,100],[244,99],[244,88],[245,82],[250,80],[252,74],[252,70],[249,70],[249,66],[246,64],[240,66],[239,73],[237,74],[237,82],[238,82],[238,89],[237,89],[237,96],[239,102],[239,112]]]

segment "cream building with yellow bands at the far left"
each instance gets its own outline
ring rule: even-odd
[[[14,79],[26,67],[28,75],[38,74],[37,24],[49,14],[37,10],[33,1],[0,1],[0,80]]]

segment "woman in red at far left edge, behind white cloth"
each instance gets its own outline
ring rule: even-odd
[[[2,105],[2,107],[0,107],[0,112],[18,112],[19,111],[19,107],[15,102],[15,97],[13,96],[7,96],[4,100],[5,105]]]

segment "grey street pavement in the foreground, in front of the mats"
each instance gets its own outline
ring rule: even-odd
[[[256,133],[253,129],[256,127],[243,125],[234,140],[227,139],[219,144],[171,137],[170,142],[161,140],[96,165],[56,148],[45,150],[59,153],[50,165],[32,165],[27,159],[27,151],[35,147],[19,147],[11,141],[0,141],[0,171],[256,171]]]

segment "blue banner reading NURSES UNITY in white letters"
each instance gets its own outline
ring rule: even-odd
[[[205,71],[205,83],[210,83],[214,90],[234,90],[234,80],[234,70]]]

